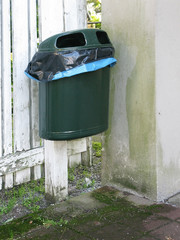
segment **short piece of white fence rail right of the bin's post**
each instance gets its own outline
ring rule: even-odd
[[[86,150],[87,150],[86,138],[71,140],[67,142],[68,156],[85,152]]]

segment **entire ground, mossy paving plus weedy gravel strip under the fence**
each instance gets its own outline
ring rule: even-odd
[[[1,191],[0,240],[180,240],[180,208],[100,186],[98,146],[92,166],[69,169],[59,204],[45,198],[44,179]]]

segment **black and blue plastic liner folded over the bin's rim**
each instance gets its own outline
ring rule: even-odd
[[[113,47],[62,50],[58,52],[39,51],[29,62],[25,74],[39,82],[71,77],[96,71],[116,63]]]

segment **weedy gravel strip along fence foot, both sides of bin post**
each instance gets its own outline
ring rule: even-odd
[[[68,169],[68,198],[101,186],[101,144],[95,142],[92,166]],[[67,199],[68,199],[67,198]],[[0,191],[0,225],[53,204],[45,196],[44,179]]]

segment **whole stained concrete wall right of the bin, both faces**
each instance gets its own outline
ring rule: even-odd
[[[180,191],[180,2],[103,0],[102,7],[118,60],[103,184],[162,200]]]

